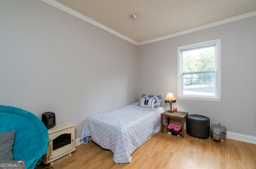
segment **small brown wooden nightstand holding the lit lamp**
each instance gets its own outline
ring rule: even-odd
[[[182,124],[182,128],[181,128],[181,137],[184,138],[184,120],[186,119],[186,117],[188,116],[188,113],[187,112],[173,112],[173,113],[170,113],[168,112],[169,110],[163,112],[161,114],[161,132],[164,132],[164,116],[167,117],[167,122],[168,122],[168,125],[169,125],[169,120],[170,118],[176,118],[176,119],[181,119],[181,124]]]

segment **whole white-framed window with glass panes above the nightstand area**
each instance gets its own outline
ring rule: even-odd
[[[220,39],[178,47],[178,98],[220,101]]]

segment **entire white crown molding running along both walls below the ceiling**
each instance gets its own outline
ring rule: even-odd
[[[239,16],[234,16],[232,18],[228,18],[228,19],[225,19],[225,20],[213,22],[211,24],[206,24],[204,26],[199,26],[199,27],[188,29],[188,30],[185,30],[185,31],[172,33],[170,35],[158,37],[158,38],[155,38],[155,39],[150,39],[150,40],[147,40],[147,41],[137,42],[137,41],[134,41],[133,39],[130,39],[127,36],[122,35],[121,33],[118,33],[117,31],[114,31],[114,30],[112,30],[112,29],[110,29],[110,28],[108,28],[108,27],[106,27],[106,26],[88,18],[87,16],[84,16],[84,15],[80,14],[79,12],[76,12],[75,10],[72,10],[71,8],[68,8],[68,7],[64,6],[63,4],[60,4],[59,2],[56,2],[55,0],[41,0],[41,1],[46,2],[47,4],[50,4],[51,6],[54,6],[54,7],[58,8],[58,9],[64,11],[64,12],[67,12],[68,14],[73,15],[73,16],[81,19],[81,20],[84,20],[85,22],[88,22],[88,23],[90,23],[94,26],[97,26],[98,28],[101,28],[105,31],[108,31],[109,33],[112,33],[112,34],[114,34],[114,35],[116,35],[116,36],[118,36],[118,37],[120,37],[120,38],[122,38],[126,41],[129,41],[130,43],[135,44],[135,45],[144,45],[144,44],[147,44],[147,43],[161,41],[161,40],[164,40],[164,39],[169,39],[171,37],[176,37],[176,36],[184,35],[184,34],[187,34],[187,33],[194,32],[194,31],[207,29],[207,28],[212,28],[214,26],[218,26],[218,25],[229,23],[229,22],[241,20],[241,19],[244,19],[244,18],[249,18],[249,17],[252,17],[252,16],[256,16],[256,11],[253,11],[253,12],[249,12],[249,13],[242,14],[242,15],[239,15]]]

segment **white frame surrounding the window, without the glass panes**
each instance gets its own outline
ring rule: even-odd
[[[182,57],[181,50],[191,49],[200,46],[204,46],[210,43],[216,43],[216,57],[215,57],[215,91],[216,96],[187,96],[182,95],[183,79],[182,79]],[[178,98],[179,99],[189,99],[189,100],[205,100],[205,101],[216,101],[220,102],[221,99],[221,49],[220,49],[220,39],[214,39],[210,41],[204,41],[201,43],[194,43],[191,45],[185,45],[178,47]]]

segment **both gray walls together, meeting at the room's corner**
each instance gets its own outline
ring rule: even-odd
[[[173,92],[178,111],[256,136],[255,28],[254,16],[136,46],[40,0],[1,0],[0,104],[39,118],[55,112],[57,124],[76,124],[79,138],[89,116],[136,102],[143,93],[163,95],[168,110],[164,98]],[[221,101],[178,99],[177,47],[218,38]]]

